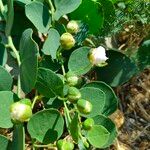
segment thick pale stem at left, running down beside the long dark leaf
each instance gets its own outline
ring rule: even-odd
[[[15,53],[18,66],[20,67],[20,65],[21,65],[20,56],[19,56],[19,53],[18,53],[18,51],[16,50],[16,48],[15,48],[15,46],[14,46],[14,44],[13,44],[13,41],[12,41],[12,37],[11,37],[11,36],[8,36],[8,45],[7,45],[7,47],[11,48],[11,49],[13,50],[13,52]],[[18,97],[20,98],[20,97],[21,97],[21,81],[20,81],[20,75],[18,75],[17,94],[18,94]]]

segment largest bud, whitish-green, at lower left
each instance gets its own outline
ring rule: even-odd
[[[22,102],[13,103],[10,106],[10,116],[14,122],[28,121],[32,116],[31,106],[23,104]]]

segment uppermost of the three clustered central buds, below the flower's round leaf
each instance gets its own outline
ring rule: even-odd
[[[66,74],[65,77],[69,86],[78,86],[82,82],[81,78],[79,78],[76,74],[70,71]]]

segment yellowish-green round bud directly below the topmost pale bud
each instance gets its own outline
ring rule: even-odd
[[[69,50],[75,45],[75,39],[70,33],[64,33],[60,37],[62,48]]]

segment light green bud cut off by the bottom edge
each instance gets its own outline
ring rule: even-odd
[[[58,150],[73,150],[74,144],[71,141],[67,140],[59,140],[57,141],[57,148]]]

